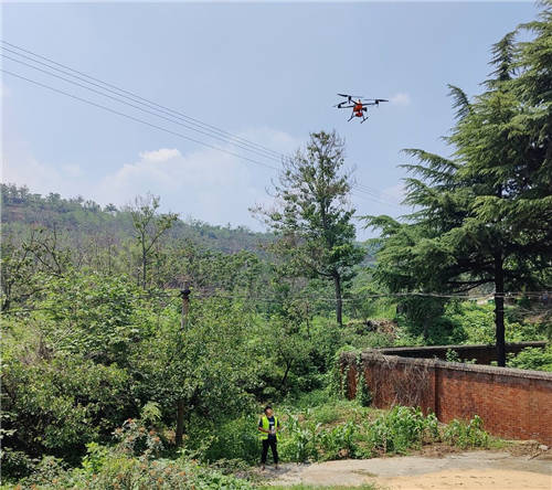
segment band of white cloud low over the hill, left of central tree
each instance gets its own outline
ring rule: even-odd
[[[261,128],[240,135],[282,153],[290,153],[299,141],[282,131]],[[248,209],[267,203],[270,179],[277,172],[210,148],[184,152],[177,148],[144,149],[136,159],[108,174],[75,163],[47,163],[36,159],[21,141],[9,140],[4,151],[3,182],[25,184],[32,192],[57,192],[64,198],[83,195],[102,205],[128,204],[137,195],[151,192],[161,198],[163,211],[192,216],[212,224],[244,224],[258,230]],[[232,146],[225,150],[279,167],[279,161]]]

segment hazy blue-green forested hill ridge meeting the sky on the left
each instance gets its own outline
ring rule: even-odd
[[[15,233],[31,225],[78,234],[109,233],[119,237],[132,235],[130,211],[113,204],[102,207],[82,196],[63,199],[60,194],[41,195],[26,187],[1,184],[2,225]],[[258,252],[259,245],[272,239],[267,233],[255,233],[244,226],[215,226],[197,220],[178,220],[169,232],[174,239],[191,239],[205,248],[235,253]]]

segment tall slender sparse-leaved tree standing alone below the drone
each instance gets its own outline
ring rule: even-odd
[[[274,187],[275,209],[254,211],[279,241],[270,248],[290,275],[333,283],[336,318],[342,326],[343,281],[364,257],[354,244],[354,214],[348,203],[351,177],[343,171],[344,143],[333,132],[314,132],[305,151],[284,162]]]

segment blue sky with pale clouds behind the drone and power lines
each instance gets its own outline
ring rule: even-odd
[[[490,71],[490,45],[538,9],[529,2],[252,2],[28,3],[2,11],[4,41],[278,152],[304,145],[309,131],[336,129],[355,180],[378,196],[353,195],[357,213],[399,215],[407,212],[396,204],[405,177],[401,149],[448,151],[439,139],[453,125],[447,84],[477,94]],[[2,65],[242,152],[10,60]],[[10,75],[1,92],[3,182],[117,205],[149,191],[182,217],[262,228],[248,207],[270,202],[272,169]],[[338,92],[392,102],[363,125],[348,124],[348,114],[332,108]]]

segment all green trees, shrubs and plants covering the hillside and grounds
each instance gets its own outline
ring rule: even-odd
[[[335,134],[312,134],[285,166],[273,234],[183,223],[151,195],[102,210],[2,184],[6,488],[252,488],[267,402],[286,461],[491,444],[478,417],[443,427],[415,407],[372,408],[362,379],[344,401],[337,359],[493,341],[502,352],[552,334],[549,300],[503,295],[550,284],[550,2],[529,29],[533,41],[495,46],[485,94],[453,88],[455,157],[411,151],[418,211],[371,217],[376,244],[354,241]],[[446,295],[473,288],[496,295]],[[550,371],[552,351],[508,362]]]

